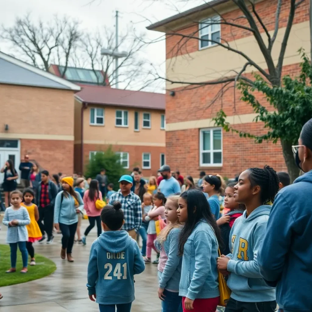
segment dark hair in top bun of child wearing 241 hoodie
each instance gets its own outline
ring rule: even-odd
[[[101,211],[101,220],[111,231],[118,231],[124,223],[124,212],[121,202],[106,205]]]

